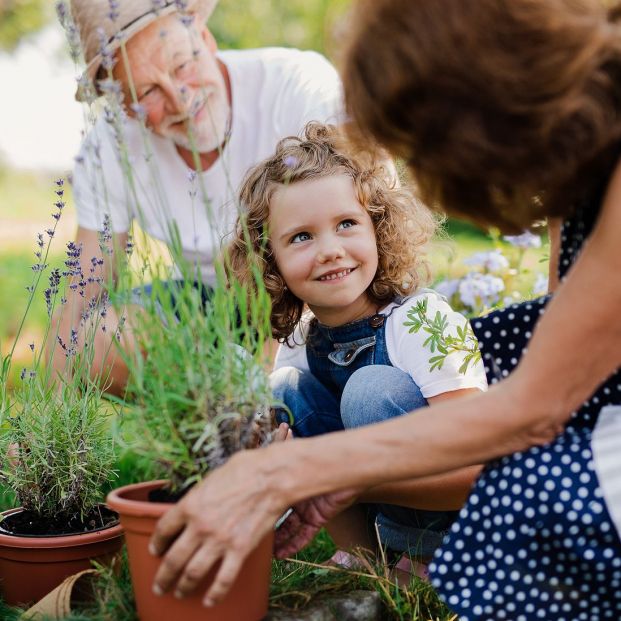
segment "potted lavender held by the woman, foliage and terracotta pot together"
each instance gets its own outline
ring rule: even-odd
[[[125,530],[142,621],[258,621],[267,612],[271,536],[213,609],[203,607],[202,597],[214,572],[192,597],[152,592],[160,559],[149,554],[148,543],[170,502],[236,451],[271,437],[271,391],[260,364],[269,302],[259,294],[246,303],[241,285],[225,284],[222,274],[219,281],[209,294],[192,278],[173,290],[156,281],[132,323],[140,353],[129,360],[124,420],[138,430],[131,446],[148,458],[154,480],[114,490],[108,504]]]

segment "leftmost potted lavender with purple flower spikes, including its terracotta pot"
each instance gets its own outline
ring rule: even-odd
[[[57,194],[62,198],[62,182]],[[56,203],[60,217],[64,203]],[[49,242],[39,235],[28,287],[32,305],[38,285],[47,271]],[[63,284],[86,282],[93,274],[81,273],[79,249],[69,248],[65,269],[49,275],[44,297],[51,317],[56,300],[64,300]],[[79,287],[79,284],[75,284]],[[23,369],[11,385],[12,356],[24,318],[6,358],[0,359],[0,478],[12,492],[18,508],[0,516],[0,591],[10,605],[38,600],[67,576],[105,562],[122,546],[118,516],[102,504],[102,487],[113,476],[114,447],[108,413],[99,385],[88,379],[89,339],[101,329],[102,307],[96,301],[83,321],[89,322],[84,347],[78,347],[77,332],[62,343],[66,352],[66,375],[51,376],[46,365],[44,343],[30,345],[32,366]],[[104,313],[105,314],[105,313]],[[50,335],[50,326],[44,336]]]

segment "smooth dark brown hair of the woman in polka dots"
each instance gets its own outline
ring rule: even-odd
[[[621,142],[618,2],[360,0],[344,56],[354,134],[430,206],[507,231],[567,216]]]

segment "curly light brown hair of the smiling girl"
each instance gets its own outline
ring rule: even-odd
[[[379,152],[353,152],[333,126],[309,123],[302,137],[289,137],[274,155],[255,166],[242,185],[235,238],[227,249],[234,278],[254,290],[256,268],[272,302],[272,334],[280,341],[293,333],[304,301],[286,287],[276,267],[267,230],[270,201],[282,186],[330,175],[351,177],[358,201],[367,210],[377,237],[378,269],[367,294],[378,305],[408,295],[429,278],[423,252],[437,218],[399,187],[394,170]]]

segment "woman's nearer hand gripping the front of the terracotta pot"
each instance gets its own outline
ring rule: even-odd
[[[285,434],[286,435],[286,434]],[[153,590],[189,595],[222,560],[203,600],[220,601],[239,569],[288,507],[264,473],[264,450],[242,451],[193,487],[157,524],[150,551],[164,555]]]

